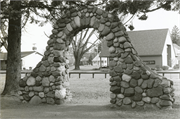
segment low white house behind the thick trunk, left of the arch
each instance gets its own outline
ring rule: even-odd
[[[36,51],[21,52],[21,68],[31,70],[41,61],[43,55]],[[0,52],[0,70],[6,70],[7,53]]]

